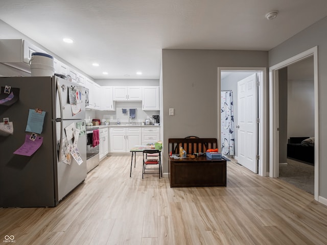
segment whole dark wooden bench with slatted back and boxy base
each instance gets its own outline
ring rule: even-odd
[[[216,138],[170,138],[169,152],[179,154],[182,146],[187,154],[204,153],[217,148]],[[226,186],[226,160],[191,156],[182,159],[169,157],[171,187]]]

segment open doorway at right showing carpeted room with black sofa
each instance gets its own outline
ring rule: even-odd
[[[278,178],[312,195],[314,194],[313,63],[313,56],[311,56],[278,71]]]

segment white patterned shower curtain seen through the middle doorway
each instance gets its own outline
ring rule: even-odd
[[[232,91],[221,91],[221,153],[234,155],[234,115]]]

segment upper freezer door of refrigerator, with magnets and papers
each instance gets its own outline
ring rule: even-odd
[[[85,88],[56,77],[56,119],[85,118]]]

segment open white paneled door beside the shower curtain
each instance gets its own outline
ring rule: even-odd
[[[238,82],[238,162],[258,173],[256,74]]]

